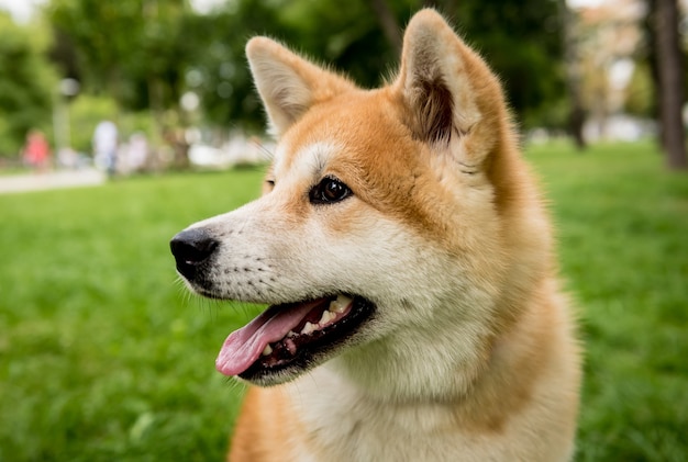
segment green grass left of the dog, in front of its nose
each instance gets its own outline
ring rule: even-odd
[[[191,298],[168,241],[260,176],[0,195],[0,460],[222,460],[240,388],[214,356],[247,311]]]

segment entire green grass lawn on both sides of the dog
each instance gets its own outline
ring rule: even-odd
[[[580,307],[579,461],[688,454],[688,176],[652,145],[532,147]],[[214,371],[255,308],[190,296],[169,238],[256,196],[236,170],[0,195],[0,460],[222,460]]]

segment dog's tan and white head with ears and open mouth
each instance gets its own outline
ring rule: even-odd
[[[197,293],[270,305],[226,339],[218,369],[274,384],[334,356],[356,370],[373,350],[395,368],[404,348],[445,335],[465,337],[447,354],[480,354],[462,342],[485,341],[485,320],[508,317],[493,313],[506,281],[537,270],[506,237],[524,226],[512,205],[528,188],[512,178],[519,160],[487,66],[431,10],[409,23],[398,77],[381,89],[265,37],[246,53],[278,138],[265,194],[171,241]],[[384,364],[359,372],[374,380]]]

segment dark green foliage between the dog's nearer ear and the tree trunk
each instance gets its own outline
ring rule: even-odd
[[[559,11],[552,0],[436,0],[440,11],[501,77],[525,128],[564,127],[566,98]]]

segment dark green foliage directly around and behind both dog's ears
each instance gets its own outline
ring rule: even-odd
[[[219,124],[238,119],[260,126],[262,114],[244,58],[246,40],[268,34],[312,58],[344,69],[363,87],[380,83],[399,59],[403,24],[433,5],[459,27],[501,76],[525,127],[564,126],[565,97],[557,3],[552,0],[234,0],[197,19],[209,42],[188,83]],[[191,33],[192,36],[199,35]]]

